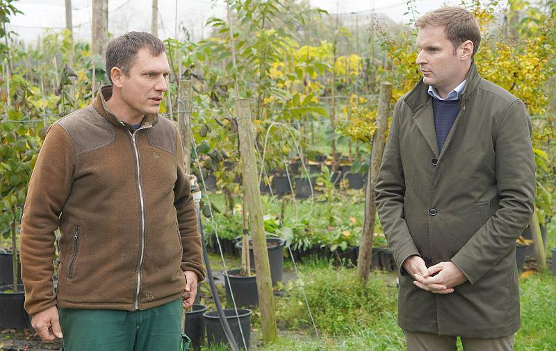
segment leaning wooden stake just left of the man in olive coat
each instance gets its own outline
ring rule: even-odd
[[[390,115],[391,96],[391,83],[382,83],[378,100],[377,130],[373,138],[373,150],[370,153],[367,191],[365,194],[365,223],[363,223],[363,235],[361,236],[357,261],[357,278],[362,282],[367,282],[370,273],[370,258],[373,253],[373,228],[375,227],[375,215],[377,212],[375,185],[377,184],[378,171],[380,162],[382,162],[382,153],[384,152],[384,139]]]

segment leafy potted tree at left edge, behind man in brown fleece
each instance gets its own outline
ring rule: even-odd
[[[9,8],[9,1],[2,6]],[[10,11],[14,12],[15,8]],[[4,76],[11,82],[10,92],[3,90],[3,102],[11,94],[14,103],[0,103],[0,114],[16,122],[1,123],[0,128],[0,200],[4,208],[0,213],[0,234],[11,238],[13,268],[12,279],[0,286],[0,329],[23,329],[28,327],[28,316],[24,310],[24,288],[19,284],[17,223],[22,218],[28,180],[40,149],[39,131],[44,128],[44,122],[38,119],[40,111],[29,101],[33,93],[24,76]]]

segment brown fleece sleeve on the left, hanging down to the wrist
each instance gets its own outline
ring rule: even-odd
[[[20,233],[25,309],[37,314],[56,305],[54,230],[70,196],[75,169],[75,149],[67,132],[54,123],[47,132],[31,174]]]

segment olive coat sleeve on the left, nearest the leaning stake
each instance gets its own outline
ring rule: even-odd
[[[402,101],[396,103],[388,140],[382,156],[378,173],[376,191],[377,210],[380,223],[388,239],[400,273],[402,264],[409,256],[420,255],[404,219],[405,180],[402,157],[400,155],[400,108]]]

